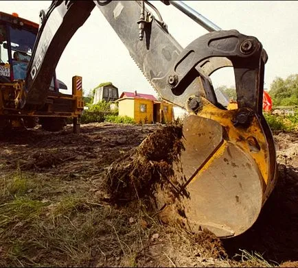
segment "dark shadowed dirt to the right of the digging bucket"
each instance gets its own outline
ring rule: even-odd
[[[298,260],[298,134],[279,132],[274,137],[277,185],[253,227],[223,241],[230,256],[245,248],[277,263]]]

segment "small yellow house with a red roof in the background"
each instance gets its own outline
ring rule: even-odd
[[[128,116],[136,123],[170,123],[173,105],[158,101],[153,95],[124,91],[118,101],[119,115]]]

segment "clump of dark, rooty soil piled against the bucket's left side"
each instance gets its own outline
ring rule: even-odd
[[[139,145],[108,168],[105,187],[117,204],[152,197],[159,184],[167,187],[174,175],[173,164],[183,149],[182,127],[166,125],[147,136]]]

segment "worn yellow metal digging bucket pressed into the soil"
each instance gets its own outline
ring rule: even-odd
[[[161,219],[180,215],[192,232],[237,236],[253,225],[275,186],[273,137],[264,118],[251,114],[239,127],[237,110],[201,101],[200,112],[183,123],[184,149],[170,178],[174,201],[157,194]]]

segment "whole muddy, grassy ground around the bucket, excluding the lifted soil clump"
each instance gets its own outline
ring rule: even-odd
[[[161,224],[146,198],[119,206],[103,188],[111,163],[157,127],[0,134],[0,266],[298,266],[297,133],[274,134],[279,180],[257,222],[219,240]]]

